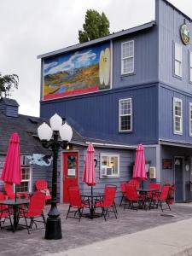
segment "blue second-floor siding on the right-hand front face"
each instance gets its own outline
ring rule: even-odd
[[[159,97],[160,139],[181,143],[192,143],[192,137],[189,137],[189,102],[192,102],[192,96],[182,91],[174,90],[174,88],[171,88],[165,84],[160,84]],[[173,133],[173,97],[181,99],[183,104],[182,135]]]

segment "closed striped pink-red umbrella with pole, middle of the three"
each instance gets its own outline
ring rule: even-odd
[[[93,148],[93,145],[90,143],[86,152],[86,158],[84,161],[84,172],[82,177],[83,182],[91,187],[91,209],[90,209],[91,218],[93,218],[93,186],[96,185],[94,152],[95,152],[95,149]]]

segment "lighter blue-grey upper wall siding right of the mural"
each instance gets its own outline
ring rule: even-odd
[[[158,80],[158,42],[156,26],[126,38],[113,40],[113,88]],[[121,44],[134,40],[135,72],[121,75]]]

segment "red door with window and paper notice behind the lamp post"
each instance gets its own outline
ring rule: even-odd
[[[68,202],[68,187],[79,185],[79,153],[63,153],[63,202]]]

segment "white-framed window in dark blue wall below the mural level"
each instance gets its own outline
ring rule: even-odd
[[[132,131],[131,98],[119,100],[119,131]]]

